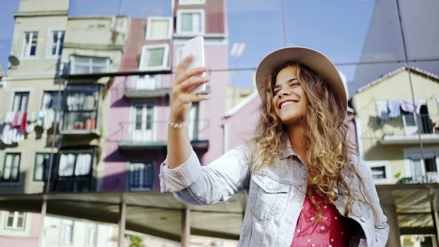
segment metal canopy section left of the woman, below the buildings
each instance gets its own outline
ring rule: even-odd
[[[193,235],[239,239],[247,196],[239,193],[226,202],[193,206],[159,191],[1,195],[0,209],[40,213],[45,200],[47,215],[110,224],[118,224],[124,204],[126,230],[180,242],[188,223]]]

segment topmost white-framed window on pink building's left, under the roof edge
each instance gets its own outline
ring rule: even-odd
[[[171,38],[172,19],[167,17],[150,17],[146,25],[146,40],[163,40]]]

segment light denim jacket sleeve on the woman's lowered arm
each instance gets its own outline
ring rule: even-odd
[[[387,223],[388,218],[385,216],[381,204],[379,202],[379,197],[377,193],[377,188],[372,178],[372,173],[370,172],[369,166],[361,158],[356,155],[352,156],[353,163],[357,164],[357,168],[361,178],[364,180],[367,192],[372,200],[372,206],[377,211],[377,222],[375,224],[375,236],[366,236],[371,239],[367,239],[369,246],[385,246],[388,241],[390,226]]]

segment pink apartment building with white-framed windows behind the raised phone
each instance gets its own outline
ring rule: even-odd
[[[191,143],[203,164],[224,152],[221,113],[225,112],[228,73],[215,71],[228,66],[224,1],[174,1],[173,13],[174,18],[131,22],[120,71],[140,75],[119,76],[110,89],[106,191],[159,188],[159,165],[167,153],[170,72],[182,59],[182,43],[195,36],[204,37],[212,98],[191,108]]]

